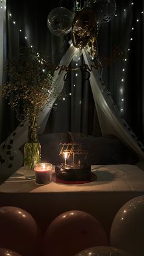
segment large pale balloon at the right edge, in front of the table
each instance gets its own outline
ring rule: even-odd
[[[117,212],[110,229],[110,244],[135,256],[144,255],[144,196],[134,197]]]

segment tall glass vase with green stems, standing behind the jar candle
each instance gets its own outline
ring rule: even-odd
[[[34,179],[34,165],[40,163],[41,145],[38,141],[37,126],[29,124],[28,139],[24,145],[24,177],[26,179]]]

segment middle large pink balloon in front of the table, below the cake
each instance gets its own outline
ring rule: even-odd
[[[46,230],[43,256],[73,256],[92,246],[107,246],[102,225],[84,211],[67,211],[57,216]]]

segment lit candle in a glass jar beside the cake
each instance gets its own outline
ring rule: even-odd
[[[45,185],[51,182],[52,164],[40,163],[35,164],[35,183],[38,185]]]

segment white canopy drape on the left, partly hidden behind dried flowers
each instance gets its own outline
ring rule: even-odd
[[[63,66],[65,65],[66,67],[68,67],[68,65],[71,62],[71,59],[73,59],[73,57],[77,54],[79,50],[76,49],[73,45],[70,46],[70,48],[68,48],[68,51],[65,53],[65,55],[63,56],[62,60],[60,61],[59,66]],[[60,75],[59,75],[59,70],[56,70],[54,72],[54,77],[52,79],[52,84],[53,84],[53,95],[57,95],[58,93],[62,92],[63,89],[63,85],[64,85],[64,80],[63,77],[65,76],[65,73],[67,73],[67,71],[63,70]],[[56,93],[58,92],[58,93]],[[52,106],[52,104],[54,104],[54,102],[56,101],[57,97],[51,97],[49,99],[50,105]],[[43,112],[40,113],[40,116],[38,118],[38,126],[40,126],[39,129],[39,133],[43,133],[44,129],[45,129],[45,125],[46,122],[48,120],[49,114],[51,112],[51,108],[46,107]],[[12,154],[14,155],[13,158],[13,167],[12,168],[8,168],[7,163],[2,163],[0,164],[0,170],[1,173],[0,175],[5,175],[7,174],[11,174],[13,171],[15,171],[16,169],[18,169],[21,164],[23,163],[23,156],[21,155],[20,150],[18,150],[18,148],[21,147],[21,145],[24,144],[24,142],[27,141],[27,130],[28,130],[28,122],[25,122],[23,126],[18,126],[16,128],[15,131],[13,131],[9,137],[7,137],[6,141],[2,142],[2,144],[0,145],[0,155],[5,157],[5,152],[4,149],[2,149],[2,146],[4,144],[9,144],[10,140],[13,140],[13,147],[12,147]],[[13,134],[15,134],[13,136]]]

